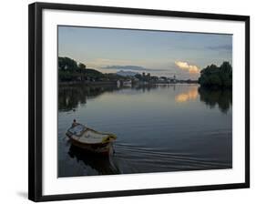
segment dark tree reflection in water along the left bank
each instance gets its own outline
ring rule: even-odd
[[[58,109],[72,110],[78,104],[86,104],[88,98],[101,95],[104,92],[112,92],[118,89],[116,86],[59,86],[58,87]]]

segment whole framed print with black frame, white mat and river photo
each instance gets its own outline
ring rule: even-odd
[[[250,17],[29,5],[29,199],[250,186]]]

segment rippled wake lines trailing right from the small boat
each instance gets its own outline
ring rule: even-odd
[[[150,173],[203,169],[232,168],[231,162],[220,162],[214,158],[204,158],[171,149],[135,147],[116,144],[115,160],[121,173]]]

